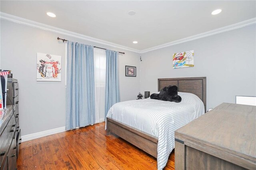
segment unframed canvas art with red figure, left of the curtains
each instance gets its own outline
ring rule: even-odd
[[[61,56],[37,53],[37,81],[61,81]]]

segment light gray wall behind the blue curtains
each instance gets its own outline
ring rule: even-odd
[[[139,70],[139,54],[115,49],[85,40],[0,20],[1,56],[0,68],[12,70],[19,81],[19,111],[22,135],[65,126],[65,44],[57,37],[70,41],[95,45],[125,52],[119,55],[121,101],[136,99],[139,92],[140,75],[125,77],[125,65]],[[50,53],[62,56],[62,81],[36,81],[36,53]]]

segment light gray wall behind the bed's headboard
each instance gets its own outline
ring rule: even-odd
[[[141,91],[157,91],[158,78],[207,77],[207,109],[235,95],[256,96],[256,26],[142,54]],[[172,33],[170,33],[172,34]],[[172,55],[194,49],[194,67],[172,69]]]

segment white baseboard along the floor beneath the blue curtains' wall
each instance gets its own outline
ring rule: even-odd
[[[101,123],[101,122],[104,122],[104,119],[99,120],[99,122],[96,122],[96,123]],[[76,127],[76,128],[79,128],[79,127]],[[44,136],[49,136],[49,135],[52,135],[52,134],[61,133],[61,132],[65,132],[65,131],[66,131],[65,127],[59,127],[59,128],[54,128],[54,129],[50,129],[50,130],[45,130],[45,131],[42,131],[42,132],[27,134],[27,135],[21,136],[21,138],[22,138],[22,142],[26,142],[28,140],[42,138]]]

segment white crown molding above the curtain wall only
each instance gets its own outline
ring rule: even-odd
[[[39,28],[39,29],[42,29],[42,30],[50,31],[50,32],[55,32],[55,33],[62,34],[62,35],[65,35],[65,36],[70,36],[70,37],[73,37],[73,38],[79,38],[81,40],[86,40],[86,41],[90,41],[90,42],[94,42],[94,43],[100,43],[100,44],[103,44],[103,45],[108,45],[110,47],[114,47],[114,48],[118,48],[118,49],[124,49],[124,50],[128,50],[128,51],[133,51],[133,52],[136,52],[136,53],[140,53],[140,50],[137,50],[137,49],[133,49],[133,48],[126,47],[126,46],[123,46],[123,45],[119,45],[119,44],[116,44],[116,43],[111,43],[111,42],[107,42],[107,41],[100,40],[100,39],[97,39],[97,38],[85,36],[83,34],[78,34],[76,32],[71,32],[71,31],[68,31],[68,30],[64,30],[64,29],[61,29],[61,28],[54,27],[54,26],[49,26],[49,25],[46,25],[46,24],[42,24],[40,22],[28,20],[28,19],[21,18],[21,17],[18,17],[18,16],[14,16],[14,15],[10,15],[10,14],[6,14],[4,12],[0,12],[0,19],[11,21],[11,22],[16,22],[18,24],[23,24],[23,25],[26,25],[26,26],[34,27],[34,28]]]

